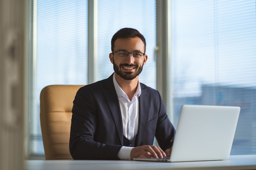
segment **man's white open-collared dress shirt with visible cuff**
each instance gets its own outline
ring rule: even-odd
[[[139,96],[141,95],[141,87],[138,81],[137,90],[132,97],[132,100],[124,93],[122,88],[113,75],[113,83],[117,92],[119,105],[121,109],[122,121],[123,121],[123,133],[124,136],[132,140],[138,132],[139,126]],[[119,159],[130,159],[130,152],[133,147],[122,146],[118,152]]]

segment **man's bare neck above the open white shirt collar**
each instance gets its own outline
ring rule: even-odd
[[[117,80],[118,85],[122,88],[124,93],[126,93],[126,95],[128,95],[128,97],[129,97],[129,99],[132,100],[132,97],[137,90],[139,76],[135,77],[132,80],[126,80],[115,73],[115,78]]]

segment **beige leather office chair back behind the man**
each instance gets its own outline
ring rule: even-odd
[[[45,159],[72,159],[69,151],[74,97],[83,85],[50,85],[40,94],[40,124]]]

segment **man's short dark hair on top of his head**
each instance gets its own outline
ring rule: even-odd
[[[144,53],[145,53],[146,52],[146,40],[145,40],[144,36],[138,30],[132,29],[132,28],[120,29],[113,35],[112,40],[111,40],[111,50],[114,51],[115,41],[118,38],[135,38],[135,37],[139,37],[143,41]]]

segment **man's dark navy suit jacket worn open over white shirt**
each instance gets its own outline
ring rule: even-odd
[[[139,127],[135,146],[152,145],[156,137],[162,150],[171,148],[175,129],[166,115],[158,91],[144,84],[139,96]],[[79,89],[74,99],[70,132],[73,159],[119,159],[123,146],[121,110],[113,75]]]

